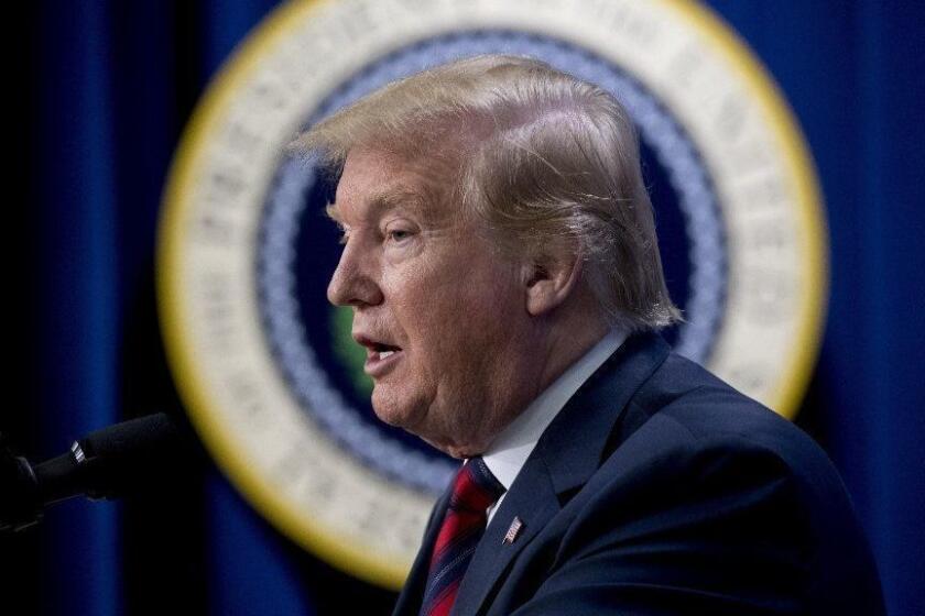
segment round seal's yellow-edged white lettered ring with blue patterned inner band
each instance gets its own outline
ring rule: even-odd
[[[706,9],[683,0],[278,9],[211,84],[177,151],[159,246],[163,331],[193,422],[233,484],[293,540],[389,587],[404,580],[446,463],[405,455],[349,417],[304,339],[287,267],[300,250],[293,204],[306,187],[293,184],[300,169],[284,169],[283,152],[351,97],[491,52],[537,55],[629,101],[684,194],[694,283],[681,343],[690,355],[790,417],[819,345],[826,237],[809,156],[771,79]],[[402,470],[417,483],[396,480]]]

